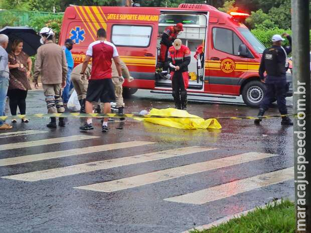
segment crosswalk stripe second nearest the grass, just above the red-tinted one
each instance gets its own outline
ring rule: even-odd
[[[85,186],[80,186],[76,188],[100,191],[100,192],[113,192],[119,191],[127,188],[133,188],[142,186],[150,183],[157,183],[164,180],[174,179],[181,176],[191,175],[199,172],[214,170],[222,167],[232,166],[240,163],[245,163],[253,160],[268,158],[275,156],[274,154],[266,153],[244,153],[238,154],[230,157],[209,160],[200,163],[194,163],[190,165],[169,168],[161,171],[150,172],[142,175],[111,180],[107,182],[101,182],[96,184],[90,184]]]

